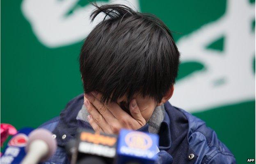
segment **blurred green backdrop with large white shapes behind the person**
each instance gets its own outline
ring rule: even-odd
[[[255,0],[101,0],[155,14],[181,52],[169,101],[206,121],[238,163],[255,158]],[[1,123],[37,128],[82,93],[87,0],[1,0]]]

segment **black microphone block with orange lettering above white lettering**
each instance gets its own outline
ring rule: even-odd
[[[78,164],[111,164],[116,155],[117,135],[83,129],[78,133]]]

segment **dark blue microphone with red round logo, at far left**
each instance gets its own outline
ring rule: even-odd
[[[18,131],[8,142],[1,156],[1,164],[20,164],[26,155],[25,146],[32,128],[23,128]],[[2,137],[2,136],[1,136]]]

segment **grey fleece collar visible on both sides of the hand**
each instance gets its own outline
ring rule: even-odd
[[[87,119],[88,115],[89,115],[89,113],[87,112],[85,105],[82,105],[82,108],[78,112],[76,119],[82,120],[85,122],[89,122]],[[148,121],[150,133],[154,133],[154,134],[158,133],[158,131],[160,129],[160,125],[161,125],[162,121],[164,120],[164,116],[165,116],[164,104],[155,107],[153,114],[152,114],[151,118],[149,118],[149,121]]]

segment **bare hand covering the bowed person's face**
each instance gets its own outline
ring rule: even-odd
[[[88,121],[94,131],[118,134],[121,128],[137,130],[146,124],[135,99],[129,105],[130,116],[117,103],[101,103],[101,96],[99,92],[84,94],[84,104],[90,114]]]

